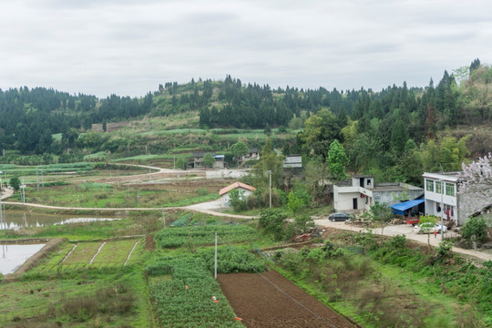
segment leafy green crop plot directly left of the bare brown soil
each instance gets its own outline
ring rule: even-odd
[[[149,294],[162,327],[242,327],[200,257],[168,258],[148,265]]]

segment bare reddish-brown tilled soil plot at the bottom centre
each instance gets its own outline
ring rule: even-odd
[[[319,317],[292,301],[290,297],[272,286],[260,274],[219,274],[218,281],[222,291],[231,303],[234,312],[247,327],[355,327],[353,323],[302,291],[279,272],[271,271],[261,274]]]

